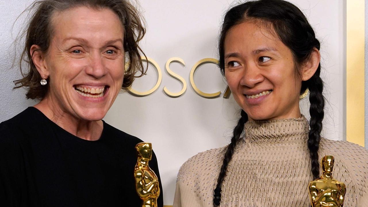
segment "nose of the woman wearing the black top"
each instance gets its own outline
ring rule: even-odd
[[[86,69],[86,73],[96,79],[102,78],[107,73],[103,56],[99,52],[91,54],[89,66]]]

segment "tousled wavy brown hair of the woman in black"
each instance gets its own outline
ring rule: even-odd
[[[142,63],[141,55],[145,57],[144,52],[139,47],[138,42],[145,35],[144,20],[128,0],[37,0],[29,10],[34,11],[29,20],[28,27],[24,34],[25,46],[20,57],[21,79],[13,81],[14,88],[25,87],[28,89],[26,93],[27,99],[45,98],[49,86],[42,86],[40,81],[43,77],[38,73],[35,64],[32,61],[31,46],[38,45],[41,52],[47,52],[53,35],[52,15],[55,12],[68,10],[78,6],[88,8],[102,9],[107,8],[112,10],[120,19],[124,27],[124,51],[125,61],[129,64],[125,69],[122,90],[127,90],[131,87],[134,78],[141,77],[145,74],[147,67]],[[28,67],[27,72],[22,70],[22,63],[26,62]],[[124,70],[124,69],[123,69]],[[140,72],[136,76],[137,72]]]

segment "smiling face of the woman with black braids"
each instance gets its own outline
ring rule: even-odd
[[[253,120],[300,117],[301,78],[289,48],[259,21],[229,30],[225,77],[234,99]]]

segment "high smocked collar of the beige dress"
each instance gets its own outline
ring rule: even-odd
[[[307,140],[308,132],[309,123],[304,116],[293,119],[248,121],[244,125],[244,141],[255,145],[300,143]]]

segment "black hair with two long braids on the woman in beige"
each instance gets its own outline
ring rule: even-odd
[[[300,76],[300,66],[308,62],[315,48],[320,49],[320,43],[315,37],[313,28],[305,15],[294,4],[283,0],[248,1],[231,8],[224,17],[219,38],[219,67],[223,75],[225,74],[224,41],[227,32],[235,25],[248,19],[260,20],[265,25],[272,26],[270,28],[275,31],[284,45],[291,50],[297,74]],[[314,179],[319,177],[318,148],[321,140],[323,109],[325,107],[325,100],[322,94],[323,81],[319,77],[320,73],[321,64],[318,65],[315,74],[309,80],[302,81],[300,89],[300,94],[303,94],[307,89],[310,92],[309,102],[311,105],[309,113],[311,120],[309,122],[308,148]],[[241,138],[240,135],[247,120],[247,113],[241,110],[241,118],[234,128],[231,143],[224,154],[223,164],[214,190],[213,204],[215,206],[220,206],[221,185],[226,176],[226,169],[233,156],[236,143]]]

